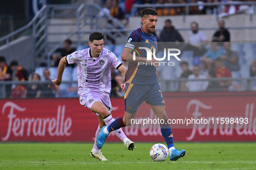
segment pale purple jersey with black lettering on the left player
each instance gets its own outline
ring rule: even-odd
[[[68,64],[77,63],[78,94],[109,95],[111,89],[111,66],[118,69],[122,63],[110,50],[103,48],[95,60],[87,48],[68,55]]]

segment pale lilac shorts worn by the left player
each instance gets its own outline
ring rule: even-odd
[[[91,110],[92,105],[96,102],[96,101],[100,101],[101,103],[103,103],[103,105],[105,107],[107,107],[107,109],[109,110],[110,114],[112,111],[112,106],[111,106],[111,102],[110,102],[110,98],[109,95],[95,95],[95,94],[89,94],[89,95],[82,95],[80,96],[80,104],[83,105],[84,107],[87,107],[88,109]],[[95,113],[95,112],[94,112]],[[97,116],[100,116],[99,113],[95,113]]]

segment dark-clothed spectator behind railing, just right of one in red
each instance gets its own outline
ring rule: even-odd
[[[42,86],[39,84],[41,77],[39,74],[33,73],[32,82],[36,82],[35,84],[30,84],[27,88],[26,97],[27,98],[40,98],[42,96]]]

